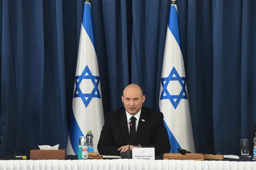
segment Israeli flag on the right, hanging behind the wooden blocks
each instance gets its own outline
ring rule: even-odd
[[[159,109],[164,114],[164,124],[171,144],[170,153],[177,153],[177,148],[195,153],[178,11],[174,4],[171,5],[166,34]]]

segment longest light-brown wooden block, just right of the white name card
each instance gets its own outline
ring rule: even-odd
[[[203,154],[173,154],[173,153],[167,153],[164,154],[164,160],[194,160],[194,161],[204,161],[204,155]]]

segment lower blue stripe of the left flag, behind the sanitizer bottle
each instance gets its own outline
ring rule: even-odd
[[[80,127],[77,124],[77,120],[75,118],[73,109],[70,116],[70,131],[69,131],[69,138],[70,143],[72,145],[73,151],[75,155],[78,153],[78,145],[79,145],[79,137],[84,136]]]

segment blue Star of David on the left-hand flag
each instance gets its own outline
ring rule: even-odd
[[[94,85],[94,88],[92,90],[92,93],[82,93],[79,85],[84,79],[90,79],[92,80],[92,83]],[[75,78],[75,83],[76,83],[76,89],[74,92],[74,97],[81,97],[82,101],[85,104],[85,107],[89,105],[90,101],[92,100],[93,97],[95,98],[100,98],[100,91],[99,91],[99,83],[100,83],[100,77],[99,76],[93,76],[91,70],[89,67],[86,65],[83,73],[81,76],[76,76]],[[86,99],[87,98],[87,99]]]

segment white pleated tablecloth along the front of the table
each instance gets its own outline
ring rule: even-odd
[[[180,160],[1,160],[0,170],[256,170],[254,162]]]

